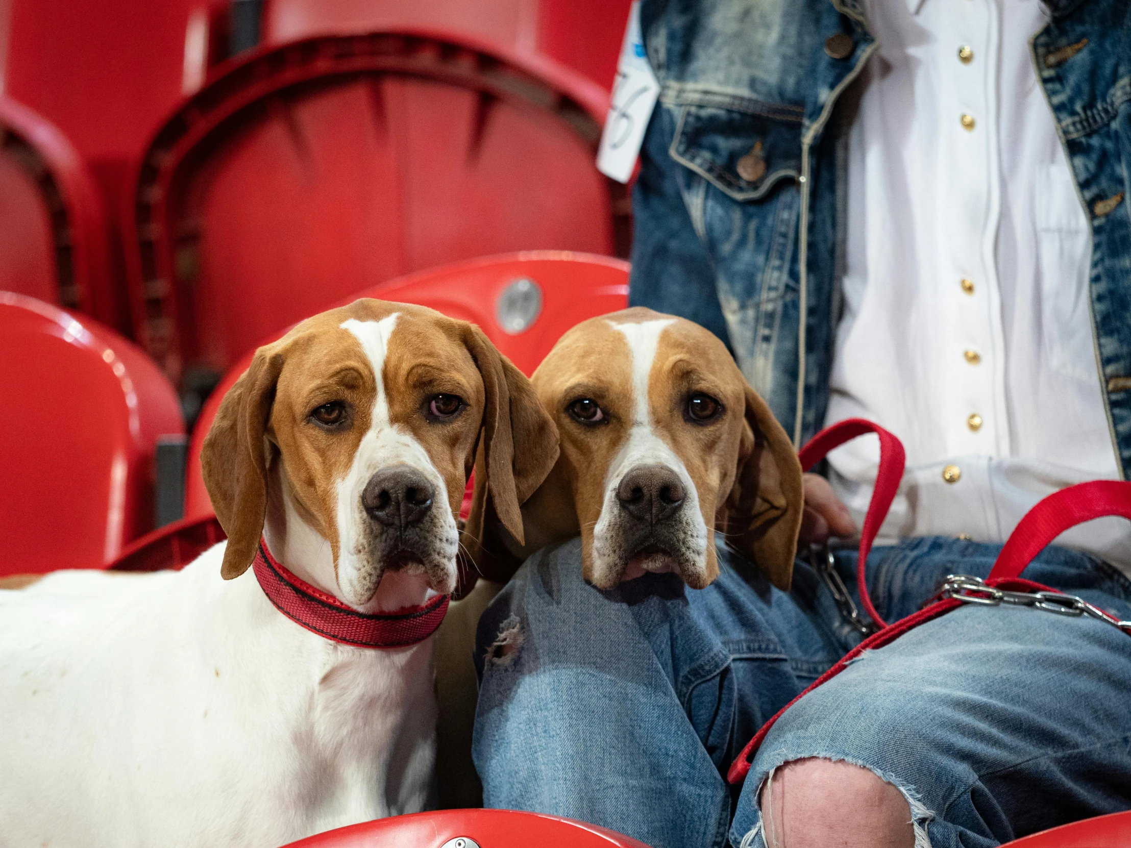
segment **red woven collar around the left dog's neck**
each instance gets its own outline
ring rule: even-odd
[[[392,613],[360,613],[280,565],[260,540],[251,563],[264,594],[283,615],[312,633],[359,648],[405,648],[432,635],[448,612],[448,596]]]

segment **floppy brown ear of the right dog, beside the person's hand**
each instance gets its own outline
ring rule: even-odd
[[[787,590],[797,553],[804,491],[797,453],[766,401],[745,387],[746,412],[734,487],[726,500],[727,543]]]

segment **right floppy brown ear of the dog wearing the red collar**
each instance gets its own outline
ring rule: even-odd
[[[489,557],[483,547],[484,529],[492,519],[519,545],[525,542],[520,507],[558,461],[558,427],[542,408],[530,381],[478,327],[468,325],[465,344],[486,393],[475,455],[475,494],[464,543],[482,570]]]

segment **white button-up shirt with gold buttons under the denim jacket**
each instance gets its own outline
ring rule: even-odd
[[[883,540],[1004,542],[1045,495],[1119,476],[1088,218],[1029,53],[1046,12],[1037,0],[869,0],[867,14],[881,47],[849,138],[826,421],[871,418],[904,442]],[[830,455],[857,522],[877,459],[874,439]],[[1060,544],[1131,571],[1122,519]]]

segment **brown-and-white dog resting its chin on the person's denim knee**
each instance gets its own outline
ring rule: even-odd
[[[485,530],[477,561],[492,577],[580,534],[594,586],[674,571],[702,588],[718,576],[720,531],[770,582],[789,587],[801,466],[711,332],[642,308],[594,318],[561,338],[532,381],[561,455],[523,508],[525,545],[490,510],[477,513],[484,527],[469,529]]]

